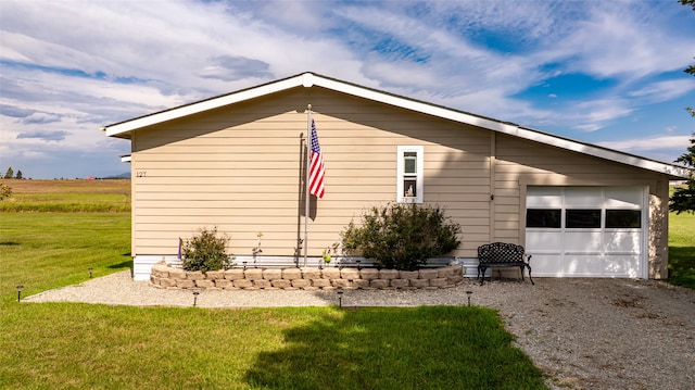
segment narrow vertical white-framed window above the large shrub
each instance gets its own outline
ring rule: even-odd
[[[422,147],[397,148],[397,193],[399,203],[422,203]]]

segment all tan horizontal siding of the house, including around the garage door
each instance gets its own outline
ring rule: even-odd
[[[454,254],[523,243],[527,186],[649,186],[649,277],[665,277],[668,177],[323,88],[294,88],[134,131],[132,254],[173,255],[217,226],[231,252],[292,256],[304,238],[306,105],[326,164],[312,198],[309,255],[372,205],[396,199],[397,147],[424,147],[425,203],[463,227]],[[491,199],[494,196],[494,199]]]

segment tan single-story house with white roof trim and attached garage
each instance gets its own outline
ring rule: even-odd
[[[309,104],[327,173],[305,222]],[[238,264],[301,265],[304,250],[316,264],[351,219],[388,202],[445,209],[463,227],[459,261],[504,241],[527,248],[534,276],[665,278],[669,180],[687,174],[312,73],[103,129],[131,142],[136,279],[213,226]]]

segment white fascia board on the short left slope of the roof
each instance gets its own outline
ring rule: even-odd
[[[180,106],[178,109],[163,111],[156,114],[142,116],[136,119],[122,122],[112,126],[106,126],[106,136],[114,137],[124,133],[132,131],[135,129],[155,125],[157,123],[176,119],[187,115],[198,114],[204,111],[218,109],[228,104],[242,102],[245,100],[260,98],[269,93],[282,91],[289,88],[298,87],[302,85],[303,75],[287,78],[277,83],[266,84],[256,88],[245,89],[236,93],[225,95],[218,98],[204,100],[198,103]]]

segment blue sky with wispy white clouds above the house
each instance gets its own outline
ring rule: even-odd
[[[0,0],[0,176],[127,173],[100,127],[304,72],[670,163],[694,56],[677,0]]]

